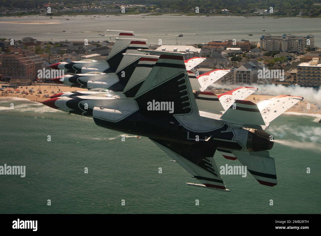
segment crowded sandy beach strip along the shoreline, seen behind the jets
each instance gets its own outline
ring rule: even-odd
[[[7,85],[7,84],[0,83],[0,85]],[[33,92],[32,94],[29,93],[28,95],[21,94],[21,92],[23,90],[26,92],[29,92],[29,89],[31,89],[31,88],[33,88],[36,92]],[[8,88],[8,89],[13,90],[12,88]],[[4,89],[4,91],[6,91],[8,89]],[[26,98],[26,99],[29,99],[30,101],[38,101],[39,102],[39,101],[44,101],[44,100],[49,99],[48,97],[44,97],[45,95],[51,96],[51,95],[53,95],[55,93],[59,93],[59,92],[87,91],[87,89],[73,88],[73,87],[67,87],[67,86],[57,86],[55,84],[48,84],[48,86],[47,85],[19,86],[18,89],[20,90],[20,93],[16,93],[16,91],[13,91],[14,93],[7,93],[5,96]],[[37,91],[38,89],[41,90],[42,94],[38,94],[38,91]],[[47,90],[47,92],[45,90]],[[51,91],[54,91],[55,93],[51,93]],[[219,95],[220,93],[215,92],[215,94]],[[5,96],[0,96],[0,97],[3,98]],[[274,96],[252,94],[249,97],[247,97],[246,100],[252,101],[254,103],[258,103],[260,101],[264,101],[265,99],[270,99],[273,97]],[[310,109],[307,109],[307,103],[310,103]],[[297,104],[295,104],[293,107],[291,107],[291,109],[289,109],[286,112],[321,114],[321,109],[318,109],[317,104],[303,100],[303,101],[299,101]]]

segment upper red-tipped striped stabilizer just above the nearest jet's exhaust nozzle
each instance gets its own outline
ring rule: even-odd
[[[221,119],[242,125],[265,125],[256,104],[247,100],[236,100],[221,116]]]

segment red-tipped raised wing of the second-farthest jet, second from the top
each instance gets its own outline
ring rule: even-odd
[[[108,58],[106,59],[109,68],[104,72],[115,73],[118,65],[124,57],[123,53],[126,53],[127,50],[136,50],[139,48],[147,48],[146,39],[116,38],[116,42],[111,49]]]

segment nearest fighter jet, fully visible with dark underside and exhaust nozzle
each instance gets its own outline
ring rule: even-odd
[[[258,104],[236,99],[221,114],[200,111],[195,100],[199,96],[192,91],[184,53],[160,51],[159,54],[133,98],[83,96],[87,97],[88,106],[93,106],[94,122],[101,127],[150,138],[202,183],[188,185],[229,191],[213,158],[217,150],[225,158],[238,159],[246,165],[260,184],[275,186],[274,159],[268,152],[273,142],[265,129],[303,98],[280,95]],[[215,94],[197,95],[208,100]],[[79,98],[69,97],[63,102],[56,97],[43,103],[53,108],[66,108],[68,102],[76,99]],[[82,102],[72,104],[74,110],[79,110],[80,106],[83,110]]]

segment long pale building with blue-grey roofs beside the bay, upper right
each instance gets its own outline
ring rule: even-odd
[[[305,37],[292,34],[283,34],[282,36],[265,34],[261,36],[260,46],[264,51],[302,53],[308,47],[314,48],[314,36],[312,34]]]

